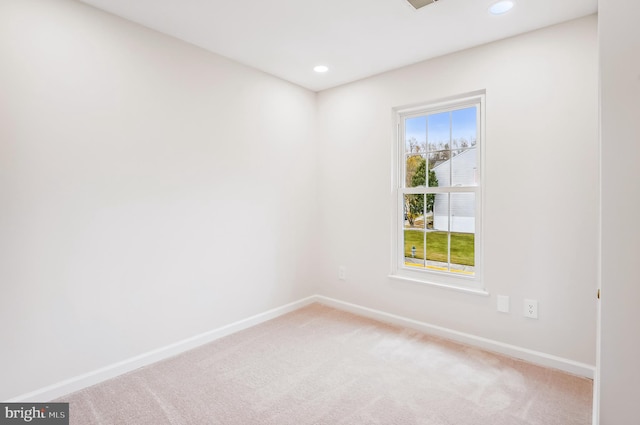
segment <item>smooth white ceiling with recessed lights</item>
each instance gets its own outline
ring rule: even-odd
[[[314,91],[597,12],[597,0],[81,0]],[[317,74],[313,67],[330,70]]]

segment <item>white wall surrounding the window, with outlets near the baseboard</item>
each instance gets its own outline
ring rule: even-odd
[[[319,93],[322,295],[594,365],[596,24],[590,16]],[[392,280],[391,108],[482,89],[491,296]],[[510,314],[496,311],[497,294],[511,296]],[[524,298],[539,301],[539,320],[522,316]]]

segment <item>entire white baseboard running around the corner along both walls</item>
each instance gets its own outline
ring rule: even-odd
[[[371,319],[376,319],[382,322],[393,323],[395,325],[416,329],[428,334],[461,342],[463,344],[472,345],[510,357],[526,360],[528,362],[535,363],[541,366],[559,369],[574,375],[593,379],[595,374],[595,367],[585,363],[579,363],[550,354],[517,347],[515,345],[505,344],[499,341],[493,341],[487,338],[458,332],[452,329],[431,325],[413,319],[408,319],[406,317],[396,316],[394,314],[385,313],[383,311],[374,310],[357,304],[347,303],[322,295],[313,295],[283,305],[281,307],[265,311],[264,313],[256,314],[255,316],[239,320],[229,325],[222,326],[209,332],[195,335],[191,338],[187,338],[182,341],[167,345],[165,347],[149,351],[139,356],[135,356],[130,359],[105,366],[95,371],[88,372],[53,385],[49,385],[36,391],[14,397],[6,401],[14,403],[51,401],[72,392],[79,391],[83,388],[99,384],[100,382],[106,381],[108,379],[115,378],[116,376],[122,375],[124,373],[131,372],[143,366],[148,366],[160,360],[173,357],[177,354],[199,347],[203,344],[215,341],[216,339],[241,331],[243,329],[247,329],[251,326],[258,325],[262,322],[266,322],[267,320],[282,316],[283,314],[297,310],[313,302],[319,302],[330,307],[348,311],[360,316],[369,317]]]

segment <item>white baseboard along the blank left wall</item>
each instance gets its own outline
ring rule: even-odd
[[[264,313],[256,314],[255,316],[251,316],[249,318],[239,320],[229,325],[222,326],[220,328],[204,332],[199,335],[195,335],[191,338],[183,339],[182,341],[178,341],[165,347],[140,354],[139,356],[135,356],[130,359],[102,367],[92,372],[88,372],[83,375],[76,376],[53,385],[49,385],[44,388],[40,388],[36,391],[14,397],[6,401],[9,403],[51,401],[72,392],[79,391],[83,388],[99,384],[100,382],[106,381],[108,379],[115,378],[116,376],[122,375],[124,373],[139,369],[143,366],[147,366],[160,360],[173,357],[177,354],[215,341],[216,339],[230,335],[234,332],[238,332],[243,329],[250,328],[251,326],[258,325],[262,322],[266,322],[267,320],[282,316],[283,314],[297,310],[301,307],[304,307],[305,305],[311,304],[316,301],[317,299],[315,296],[303,298],[301,300],[283,305],[281,307],[276,307],[269,311],[265,311]]]

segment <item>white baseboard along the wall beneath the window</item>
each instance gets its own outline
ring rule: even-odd
[[[573,375],[578,375],[589,379],[593,379],[595,375],[595,366],[586,363],[580,363],[562,357],[554,356],[552,354],[542,353],[540,351],[529,350],[527,348],[505,344],[503,342],[482,338],[464,332],[458,332],[452,329],[443,328],[441,326],[431,325],[429,323],[420,322],[418,320],[396,316],[394,314],[385,313],[383,311],[374,310],[357,304],[347,303],[322,295],[316,295],[315,299],[316,301],[327,306],[358,314],[360,316],[365,316],[371,319],[379,320],[381,322],[387,322],[407,328],[416,329],[431,335],[450,339],[474,347],[479,347],[484,350],[493,351],[499,354],[504,354],[506,356],[525,360],[540,366],[559,369]]]

